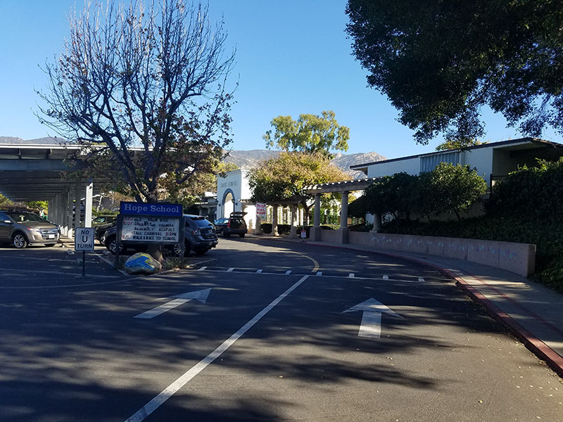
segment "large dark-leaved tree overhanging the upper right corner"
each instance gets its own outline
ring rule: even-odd
[[[479,138],[484,105],[524,134],[563,131],[560,1],[348,0],[346,13],[368,84],[417,142]]]

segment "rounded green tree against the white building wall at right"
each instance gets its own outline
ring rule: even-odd
[[[468,165],[441,162],[431,172],[422,173],[419,183],[419,210],[424,215],[468,210],[487,191],[485,180]]]

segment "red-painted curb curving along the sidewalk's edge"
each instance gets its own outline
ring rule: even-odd
[[[274,240],[291,242],[290,240],[284,240],[280,238],[274,238]],[[536,357],[545,361],[548,364],[548,366],[550,366],[550,368],[553,371],[555,371],[555,373],[557,373],[557,375],[563,378],[563,357],[561,357],[557,352],[555,352],[555,350],[552,350],[551,347],[543,343],[542,340],[540,340],[535,335],[533,335],[528,330],[526,330],[526,328],[524,328],[516,321],[514,321],[512,316],[503,312],[502,309],[500,309],[497,305],[491,302],[491,300],[488,300],[483,294],[481,294],[479,290],[471,286],[469,283],[467,283],[467,281],[462,279],[460,276],[457,276],[449,269],[445,269],[431,262],[418,260],[417,258],[407,257],[405,255],[398,255],[398,254],[387,253],[387,252],[379,252],[378,250],[349,248],[347,246],[339,246],[339,245],[323,245],[321,243],[311,243],[311,244],[317,246],[324,246],[325,248],[339,248],[339,249],[348,249],[348,250],[358,250],[361,252],[372,252],[372,253],[377,253],[379,255],[386,255],[388,257],[400,258],[402,260],[416,262],[417,264],[422,264],[422,265],[426,265],[427,267],[437,269],[442,274],[447,276],[449,279],[454,280],[455,285],[461,288],[462,290],[464,290],[464,292],[467,293],[469,298],[471,298],[474,302],[483,305],[483,307],[485,307],[485,309],[487,310],[488,314],[490,314],[497,321],[500,321],[503,325],[505,325],[512,333],[512,335],[514,335],[514,337],[519,339],[521,343],[523,343],[526,346],[526,348],[528,348],[528,350],[533,352],[533,354],[535,354]],[[466,274],[473,276],[472,274],[469,273]]]

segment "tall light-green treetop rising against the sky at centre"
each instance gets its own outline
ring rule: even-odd
[[[321,116],[302,114],[297,120],[278,116],[270,123],[274,132],[269,130],[262,136],[267,148],[324,155],[330,155],[331,150],[348,150],[350,129],[336,122],[334,111],[323,111]]]

